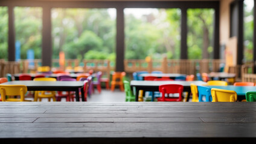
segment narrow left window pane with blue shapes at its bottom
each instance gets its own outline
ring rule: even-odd
[[[16,59],[35,59],[42,56],[42,8],[15,7]],[[28,56],[33,57],[33,56]]]

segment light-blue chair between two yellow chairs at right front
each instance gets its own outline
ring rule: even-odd
[[[211,97],[211,88],[208,88],[207,86],[197,86],[197,90],[199,102],[213,101],[213,98]],[[203,101],[203,96],[205,96],[205,101]]]

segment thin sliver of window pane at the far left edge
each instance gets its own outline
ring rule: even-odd
[[[0,59],[8,59],[8,8],[0,7]]]

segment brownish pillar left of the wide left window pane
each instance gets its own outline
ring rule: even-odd
[[[51,7],[43,7],[42,65],[51,67]]]

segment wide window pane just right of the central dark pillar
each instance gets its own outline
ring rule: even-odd
[[[179,59],[181,10],[125,8],[125,58]]]

